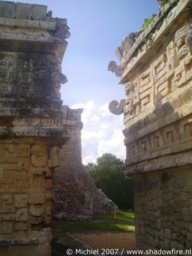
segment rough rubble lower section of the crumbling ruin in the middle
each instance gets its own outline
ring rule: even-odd
[[[54,183],[56,220],[91,220],[93,213],[113,213],[117,205],[97,189],[85,170],[81,181]]]

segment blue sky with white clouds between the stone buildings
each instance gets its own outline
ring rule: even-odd
[[[139,31],[144,19],[158,12],[157,0],[19,0],[47,5],[53,17],[67,18],[67,39],[62,70],[68,82],[61,86],[64,105],[83,107],[83,162],[102,153],[125,158],[123,117],[111,115],[107,105],[124,96],[123,85],[109,71],[123,37]]]

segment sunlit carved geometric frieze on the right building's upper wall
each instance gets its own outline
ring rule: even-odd
[[[174,40],[167,45],[165,51],[157,55],[148,67],[139,69],[137,78],[129,78],[129,84],[132,84],[131,90],[128,89],[129,95],[126,94],[125,84],[128,109],[131,107],[131,111],[125,107],[126,127],[189,88],[192,80],[192,55],[187,41],[188,32],[189,26],[177,30]]]

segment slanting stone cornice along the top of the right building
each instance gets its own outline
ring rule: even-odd
[[[119,79],[120,84],[124,84],[127,81],[127,76],[135,71],[135,68],[141,65],[144,60],[146,61],[149,58],[150,50],[155,49],[155,47],[158,47],[158,44],[161,44],[163,36],[167,33],[175,32],[177,29],[178,16],[179,19],[185,19],[186,9],[187,11],[192,9],[191,0],[180,0],[179,3],[177,3],[176,0],[171,0],[165,7],[161,7],[161,10],[158,15],[153,18],[149,27],[139,35],[131,49],[127,52],[127,55],[123,56],[123,59],[121,59],[124,72]],[[149,35],[151,37],[150,39],[148,38]],[[145,39],[147,43],[144,42]]]

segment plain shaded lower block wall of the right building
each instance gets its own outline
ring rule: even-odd
[[[134,176],[137,246],[191,249],[191,167]]]

